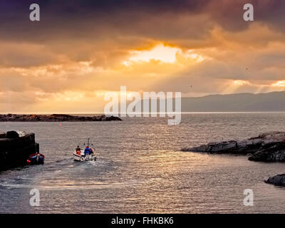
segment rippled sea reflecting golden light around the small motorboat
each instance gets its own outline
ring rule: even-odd
[[[0,172],[1,213],[284,213],[285,188],[267,185],[285,164],[250,162],[245,156],[181,152],[205,142],[285,131],[285,113],[183,114],[126,118],[122,122],[0,123],[0,130],[36,134],[45,165]],[[87,138],[98,160],[74,162]],[[40,191],[31,207],[30,190]],[[244,189],[254,191],[245,207]]]

